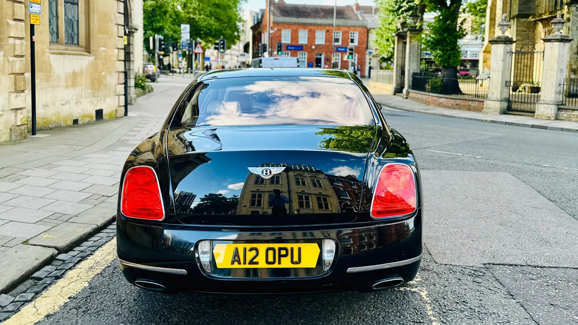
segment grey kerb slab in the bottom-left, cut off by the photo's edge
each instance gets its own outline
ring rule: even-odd
[[[49,263],[56,254],[53,248],[21,244],[6,250],[0,258],[0,293],[7,293]]]

